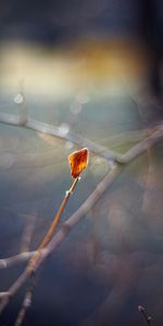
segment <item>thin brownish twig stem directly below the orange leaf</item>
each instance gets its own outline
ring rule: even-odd
[[[71,196],[71,193],[73,192],[73,190],[75,189],[77,183],[78,183],[78,179],[79,177],[76,177],[71,186],[71,188],[65,192],[65,197],[54,216],[54,220],[50,226],[50,228],[48,229],[45,238],[42,239],[41,243],[39,244],[36,253],[34,254],[34,256],[30,259],[29,263],[28,263],[28,272],[29,272],[29,275],[32,275],[34,272],[35,272],[35,266],[36,266],[36,263],[38,261],[38,259],[40,258],[40,254],[41,254],[41,250],[50,242],[50,240],[52,239],[52,236],[55,231],[55,228],[59,224],[59,221],[60,221],[60,217],[63,213],[63,210],[68,201],[68,198]]]

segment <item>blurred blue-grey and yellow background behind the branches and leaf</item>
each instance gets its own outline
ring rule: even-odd
[[[0,2],[0,112],[125,153],[163,118],[162,0]],[[136,131],[136,133],[135,133]],[[72,179],[72,141],[0,123],[0,258],[39,244]],[[162,142],[128,164],[38,273],[23,325],[163,323]],[[62,222],[109,172],[90,153]],[[61,226],[61,225],[60,225]],[[25,264],[0,271],[0,290]],[[0,325],[14,324],[25,288]]]

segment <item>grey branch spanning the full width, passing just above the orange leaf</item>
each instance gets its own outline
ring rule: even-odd
[[[26,111],[25,115],[20,115],[20,116],[14,116],[12,114],[7,114],[7,113],[0,113],[0,123],[5,123],[9,125],[14,125],[14,126],[24,126],[25,128],[39,131],[42,134],[55,136],[62,139],[66,139],[68,141],[72,141],[73,143],[79,145],[82,147],[87,147],[91,152],[103,156],[104,159],[109,161],[115,161],[117,163],[128,163],[135,156],[141,154],[145,150],[150,148],[152,145],[155,143],[155,141],[160,140],[163,138],[163,124],[160,124],[159,126],[155,126],[155,131],[152,133],[151,128],[151,135],[147,137],[147,139],[142,140],[142,142],[138,143],[137,147],[134,147],[129,151],[127,151],[125,154],[118,154],[112,150],[106,149],[105,147],[101,145],[97,145],[93,141],[86,139],[75,133],[67,131],[63,133],[63,130],[60,127],[49,125],[36,120],[32,120],[27,117]],[[148,129],[147,134],[150,129]]]

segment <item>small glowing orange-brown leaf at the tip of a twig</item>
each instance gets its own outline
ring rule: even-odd
[[[78,177],[83,170],[87,167],[88,164],[88,149],[84,148],[80,151],[73,152],[68,156],[71,173],[74,178]]]

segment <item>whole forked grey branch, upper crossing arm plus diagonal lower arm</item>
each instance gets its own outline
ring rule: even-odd
[[[62,242],[65,238],[67,233],[82,220],[83,216],[95,205],[95,203],[99,200],[101,195],[105,191],[108,187],[111,186],[115,177],[121,173],[123,165],[129,163],[138,155],[142,154],[150,148],[152,148],[155,143],[158,143],[161,139],[163,139],[163,125],[159,125],[155,128],[155,131],[152,133],[149,137],[140,141],[138,145],[133,147],[129,151],[125,154],[117,154],[113,151],[105,149],[99,145],[91,142],[88,139],[80,137],[79,135],[67,133],[63,135],[60,128],[54,126],[40,123],[35,120],[27,118],[27,116],[22,117],[13,117],[12,115],[0,113],[0,122],[16,125],[16,126],[24,126],[29,129],[34,129],[37,131],[41,131],[48,135],[53,135],[55,137],[60,137],[63,139],[68,139],[74,143],[88,147],[88,149],[96,154],[102,155],[109,161],[114,161],[111,171],[109,174],[103,178],[101,183],[96,187],[93,192],[88,197],[88,199],[80,205],[80,208],[63,224],[61,229],[58,234],[50,240],[50,242],[41,250],[39,254],[39,259],[36,262],[35,271],[39,268],[39,266],[45,262],[46,258],[54,251],[54,249]],[[122,164],[117,164],[122,163]],[[13,258],[0,260],[0,266],[5,268],[10,265],[13,265],[15,262],[20,262],[23,260],[29,259],[33,256],[35,252],[27,252],[22,253]],[[10,302],[10,299],[18,291],[18,289],[25,284],[25,281],[30,277],[30,271],[28,266],[24,269],[22,275],[13,283],[13,285],[9,288],[7,292],[0,293],[0,312],[4,310],[4,308]]]

